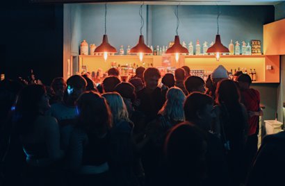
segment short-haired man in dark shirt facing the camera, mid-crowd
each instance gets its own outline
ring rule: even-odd
[[[143,78],[145,80],[145,88],[137,93],[137,97],[140,100],[138,110],[146,115],[147,121],[152,121],[163,106],[168,89],[158,87],[158,80],[161,78],[161,74],[154,67],[146,69]]]

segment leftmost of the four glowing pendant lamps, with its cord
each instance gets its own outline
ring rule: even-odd
[[[105,34],[103,35],[102,43],[95,49],[95,53],[103,53],[104,60],[108,58],[108,53],[117,53],[117,49],[108,42],[108,35],[106,34],[106,16],[107,16],[107,3],[105,3]]]

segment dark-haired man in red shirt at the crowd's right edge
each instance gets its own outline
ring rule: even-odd
[[[259,92],[250,88],[250,84],[252,83],[250,76],[241,74],[236,81],[238,81],[238,86],[241,90],[241,102],[245,105],[248,113],[249,130],[245,149],[245,170],[247,170],[257,153],[259,116],[262,116],[263,112],[260,108]]]

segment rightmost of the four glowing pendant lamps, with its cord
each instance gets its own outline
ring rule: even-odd
[[[220,35],[219,35],[219,22],[218,19],[220,17],[220,11],[218,11],[218,17],[217,17],[217,26],[218,26],[218,34],[215,35],[215,43],[212,47],[210,47],[206,52],[207,53],[215,53],[215,59],[218,61],[220,60],[220,53],[227,53],[229,52],[229,49],[222,45],[222,42],[220,41]]]

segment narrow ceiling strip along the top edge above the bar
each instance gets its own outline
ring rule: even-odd
[[[140,4],[138,0],[29,0],[31,3],[128,3]],[[276,0],[148,0],[145,4],[156,5],[276,5]]]

